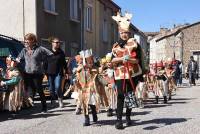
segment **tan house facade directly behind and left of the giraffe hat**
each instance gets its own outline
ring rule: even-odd
[[[112,16],[120,7],[110,0],[85,0],[85,49],[91,48],[97,57],[111,51],[118,40],[118,26]]]

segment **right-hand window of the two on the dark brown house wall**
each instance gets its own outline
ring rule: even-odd
[[[78,20],[78,0],[70,0],[70,19]]]

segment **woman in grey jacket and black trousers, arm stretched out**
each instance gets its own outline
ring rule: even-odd
[[[42,80],[44,77],[44,66],[43,63],[46,61],[48,56],[53,55],[51,51],[40,46],[37,43],[36,35],[28,33],[24,36],[24,45],[25,48],[22,49],[18,55],[18,62],[25,62],[24,70],[24,85],[25,90],[30,92],[33,91],[32,98],[34,93],[37,91],[40,95],[42,103],[42,112],[47,111],[46,99],[42,89]]]

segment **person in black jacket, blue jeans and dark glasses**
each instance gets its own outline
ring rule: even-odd
[[[60,48],[60,40],[53,38],[51,40],[52,48],[51,52],[53,56],[47,60],[47,70],[49,80],[49,88],[51,92],[51,104],[55,107],[56,95],[58,97],[59,107],[63,107],[63,93],[61,89],[62,78],[67,73],[67,63],[65,60],[65,54]],[[67,74],[66,74],[67,75]],[[56,94],[55,94],[56,93]]]

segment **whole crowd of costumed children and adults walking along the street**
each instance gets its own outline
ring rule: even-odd
[[[38,45],[34,34],[25,35],[25,48],[17,58],[6,57],[7,68],[1,69],[0,111],[17,112],[33,107],[34,96],[39,93],[42,112],[47,112],[42,87],[44,74],[48,78],[51,107],[57,105],[58,99],[59,107],[63,108],[63,96],[72,92],[77,105],[75,113],[83,113],[84,126],[90,125],[89,113],[93,122],[97,122],[97,114],[106,109],[107,116],[116,113],[116,129],[123,129],[123,108],[126,108],[126,125],[130,126],[132,109],[143,108],[150,93],[155,96],[155,103],[159,103],[159,98],[163,98],[162,103],[170,101],[177,85],[182,84],[181,62],[169,57],[147,65],[143,49],[130,35],[132,14],[117,14],[112,18],[119,26],[120,39],[101,59],[87,49],[67,63],[58,38],[51,39],[52,49],[48,50]],[[198,66],[192,64],[194,67]],[[65,93],[61,89],[63,78],[70,79]],[[195,85],[195,78],[191,79],[190,83]]]

